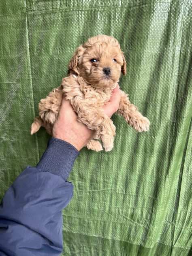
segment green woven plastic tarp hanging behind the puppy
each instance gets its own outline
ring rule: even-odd
[[[192,255],[191,0],[0,1],[0,198],[47,146],[43,128],[30,135],[39,100],[97,34],[119,41],[119,85],[151,126],[114,115],[113,150],[81,150],[62,255]]]

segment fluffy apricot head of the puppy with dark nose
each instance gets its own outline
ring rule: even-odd
[[[68,68],[95,87],[112,87],[126,75],[126,60],[117,39],[98,35],[76,49]]]

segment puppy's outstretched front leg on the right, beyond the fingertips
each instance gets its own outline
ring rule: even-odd
[[[126,122],[138,132],[147,132],[149,130],[149,119],[144,117],[133,104],[130,103],[125,92],[121,91],[121,98],[119,102],[119,109],[117,111],[122,115]]]

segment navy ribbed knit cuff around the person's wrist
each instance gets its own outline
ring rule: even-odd
[[[67,180],[79,151],[70,143],[51,138],[36,167],[42,172],[60,175]]]

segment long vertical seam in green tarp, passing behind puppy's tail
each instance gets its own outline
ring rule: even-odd
[[[25,0],[25,10],[26,10],[26,0]],[[29,49],[29,32],[28,32],[28,21],[27,21],[27,13],[26,15],[26,47],[27,47],[27,57],[28,57],[28,71],[30,75],[30,85],[31,85],[31,91],[32,91],[32,102],[33,102],[33,115],[35,117],[35,108],[34,108],[34,98],[33,98],[33,83],[32,83],[32,72],[31,72],[31,60],[30,60],[30,49]],[[34,119],[33,117],[33,119]],[[32,120],[33,122],[33,120]],[[30,132],[30,131],[29,131]],[[38,139],[37,139],[37,134],[35,135],[35,142],[36,142],[36,147],[37,147],[37,152],[38,152],[38,161],[40,160],[39,158],[39,147],[38,147]]]

